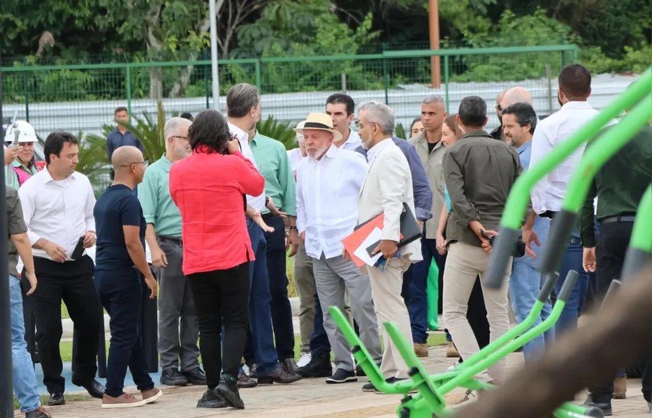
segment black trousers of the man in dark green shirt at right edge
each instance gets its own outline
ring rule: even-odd
[[[611,281],[621,279],[625,253],[632,237],[633,222],[609,222],[600,224],[600,236],[595,243],[595,290],[597,301],[602,301]],[[652,391],[652,370],[650,359],[652,353],[646,353],[642,359],[643,396],[650,401]],[[599,364],[595,366],[599,367]],[[623,364],[623,366],[625,366]],[[595,403],[611,403],[614,394],[614,379],[599,385],[588,387],[591,400]]]

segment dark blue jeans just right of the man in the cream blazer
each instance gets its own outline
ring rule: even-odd
[[[421,255],[423,261],[410,266],[403,280],[407,281],[407,313],[410,314],[410,326],[412,327],[412,341],[415,344],[426,344],[428,342],[428,274],[430,273],[430,262],[433,257],[439,262],[442,256],[437,252],[434,239],[421,239]],[[442,269],[443,270],[443,269]]]

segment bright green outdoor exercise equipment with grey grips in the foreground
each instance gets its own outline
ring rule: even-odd
[[[389,383],[384,380],[382,373],[364,348],[362,342],[355,334],[345,315],[335,306],[328,308],[329,313],[342,330],[347,341],[352,345],[352,352],[356,363],[363,368],[370,382],[378,391],[387,394],[403,394],[404,398],[398,406],[396,413],[400,418],[445,418],[454,415],[454,409],[447,407],[444,395],[457,387],[471,390],[491,390],[493,385],[475,380],[474,377],[489,366],[504,359],[507,354],[521,348],[533,338],[542,335],[550,329],[560,317],[567,298],[579,276],[577,271],[570,271],[558,294],[557,303],[553,306],[549,318],[541,324],[530,329],[539,317],[544,302],[554,288],[558,279],[556,269],[560,264],[565,251],[565,243],[572,230],[577,211],[581,209],[588,188],[593,181],[597,170],[606,163],[611,156],[616,154],[633,137],[652,116],[652,69],[646,70],[630,89],[618,96],[613,102],[588,121],[588,123],[567,140],[558,144],[542,161],[530,167],[516,181],[509,193],[505,211],[500,223],[500,234],[495,239],[493,254],[490,258],[485,284],[491,288],[502,286],[502,277],[507,269],[512,248],[519,237],[521,219],[525,214],[529,201],[530,190],[537,181],[563,163],[574,151],[579,149],[587,140],[600,133],[602,128],[623,110],[632,111],[618,124],[618,129],[606,130],[595,141],[593,147],[586,151],[584,158],[574,172],[567,195],[563,200],[563,210],[555,216],[551,226],[548,244],[542,254],[539,264],[542,277],[546,278],[544,286],[539,292],[528,318],[511,331],[490,343],[485,348],[474,354],[453,371],[436,375],[428,375],[414,354],[413,348],[400,334],[396,324],[386,322],[387,334],[396,345],[407,366],[410,368],[410,379]],[[652,264],[652,186],[648,188],[636,217],[630,246],[628,248],[623,276],[628,277],[632,272],[639,271],[646,264]],[[613,293],[620,285],[613,281],[608,295]],[[416,392],[416,393],[415,393]],[[412,394],[412,395],[410,395]],[[554,412],[557,418],[603,417],[602,410],[595,407],[564,403]]]

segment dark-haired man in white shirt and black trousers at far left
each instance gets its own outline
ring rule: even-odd
[[[63,405],[61,299],[78,340],[72,382],[96,398],[104,394],[104,387],[95,380],[102,308],[93,285],[94,263],[85,250],[95,244],[95,196],[88,178],[75,172],[79,154],[75,135],[51,133],[43,154],[45,170],[26,181],[18,195],[38,277],[31,297],[43,383],[50,392],[48,405]]]

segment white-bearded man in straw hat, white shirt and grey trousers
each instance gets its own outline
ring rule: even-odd
[[[368,276],[342,257],[342,239],[358,221],[358,195],[367,173],[365,158],[355,151],[338,148],[333,142],[341,134],[332,128],[324,113],[311,113],[303,130],[308,158],[297,167],[297,227],[312,257],[324,328],[335,357],[335,373],[326,383],[356,382],[351,347],[328,313],[329,306],[345,309],[345,290],[361,339],[378,363],[381,359],[378,322],[372,304]]]

